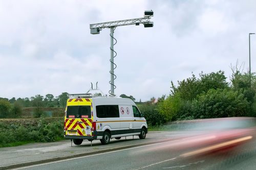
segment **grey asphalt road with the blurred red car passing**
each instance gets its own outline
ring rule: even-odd
[[[255,137],[255,130],[207,133],[22,169],[256,169]]]

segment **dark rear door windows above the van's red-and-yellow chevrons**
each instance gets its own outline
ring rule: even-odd
[[[91,106],[68,106],[67,118],[91,118]]]

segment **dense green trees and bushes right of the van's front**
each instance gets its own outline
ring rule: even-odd
[[[251,77],[251,79],[250,79]],[[182,119],[256,116],[255,74],[232,67],[230,81],[224,71],[204,74],[170,82],[170,94],[155,102],[140,105],[147,122],[160,125]],[[155,100],[155,98],[152,98]]]

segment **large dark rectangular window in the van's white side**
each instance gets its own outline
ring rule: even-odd
[[[96,106],[96,114],[99,118],[119,117],[118,105],[100,105]]]

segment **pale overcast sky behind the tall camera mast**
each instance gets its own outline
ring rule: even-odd
[[[153,28],[115,30],[115,93],[137,101],[169,94],[203,71],[249,67],[248,33],[256,33],[256,1],[11,1],[0,0],[0,97],[85,93],[91,83],[110,90],[110,29],[90,34],[90,23],[143,17]],[[251,36],[256,71],[256,36]]]

